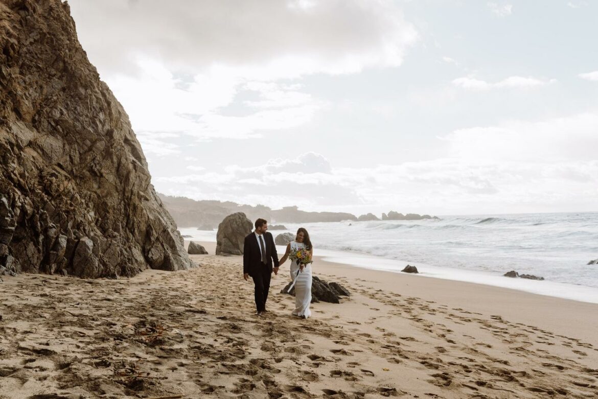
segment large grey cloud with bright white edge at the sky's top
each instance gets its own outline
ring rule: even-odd
[[[389,1],[71,0],[80,41],[102,76],[136,73],[140,55],[169,70],[228,67],[253,80],[355,73],[402,63],[418,39]],[[234,12],[233,12],[234,11]],[[105,29],[110,21],[110,29]],[[111,43],[107,46],[106,43]]]

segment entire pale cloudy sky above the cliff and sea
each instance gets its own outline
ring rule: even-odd
[[[158,192],[598,211],[598,2],[69,0]]]

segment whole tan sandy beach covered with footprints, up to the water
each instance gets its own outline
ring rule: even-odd
[[[598,395],[598,305],[316,258],[352,295],[294,318],[286,263],[257,317],[241,257],[192,259],[120,280],[4,277],[0,398]]]

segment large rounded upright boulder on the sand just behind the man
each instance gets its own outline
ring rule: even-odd
[[[243,212],[225,217],[216,233],[216,255],[242,255],[245,237],[251,233],[253,226]]]

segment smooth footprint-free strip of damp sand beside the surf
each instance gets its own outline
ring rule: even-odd
[[[215,253],[216,243],[200,241],[210,254]],[[185,245],[187,241],[185,241]],[[279,247],[277,247],[279,248]],[[279,253],[279,257],[282,254]],[[241,257],[238,256],[240,259]],[[287,277],[288,262],[280,267],[279,276]],[[444,303],[450,308],[468,307],[486,315],[504,315],[518,323],[533,323],[538,326],[558,329],[561,334],[578,335],[581,339],[594,342],[598,347],[598,304],[529,293],[513,288],[446,280],[437,277],[423,277],[402,272],[381,271],[330,262],[324,256],[314,256],[313,274],[325,274],[350,281],[374,284],[379,290],[395,291],[407,296],[423,296],[426,300]],[[505,277],[507,278],[507,277]],[[285,280],[286,281],[286,280]],[[544,283],[541,281],[539,283]],[[282,289],[284,285],[280,287]],[[275,287],[272,284],[271,287]],[[278,287],[278,286],[276,286]],[[271,288],[271,292],[272,288]],[[276,291],[277,292],[277,291]],[[583,316],[585,315],[585,316]],[[583,329],[579,324],[583,323]],[[596,360],[598,367],[598,357]]]

